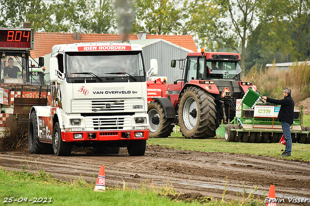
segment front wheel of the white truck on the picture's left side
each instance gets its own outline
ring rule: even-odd
[[[71,142],[62,141],[62,132],[59,123],[56,122],[53,130],[53,149],[56,156],[69,156],[71,154],[73,144]]]

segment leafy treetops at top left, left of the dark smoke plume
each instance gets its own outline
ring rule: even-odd
[[[109,33],[116,17],[111,0],[3,0],[1,27],[20,28],[31,22],[35,31]]]

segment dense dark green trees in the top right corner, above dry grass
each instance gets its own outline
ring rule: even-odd
[[[264,8],[261,23],[251,36],[255,55],[250,54],[248,65],[258,63],[264,67],[274,60],[280,63],[309,59],[310,2],[270,0]]]

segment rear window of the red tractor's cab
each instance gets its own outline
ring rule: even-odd
[[[224,79],[236,78],[237,74],[240,74],[242,71],[238,62],[208,61],[207,66],[211,77],[217,76]]]

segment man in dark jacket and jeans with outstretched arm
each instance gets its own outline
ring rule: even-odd
[[[290,88],[285,88],[283,90],[282,100],[275,100],[268,97],[262,97],[268,103],[274,103],[281,105],[278,119],[281,121],[284,139],[286,142],[286,147],[284,152],[280,155],[281,157],[291,156],[292,151],[292,136],[291,136],[291,125],[294,119],[294,101],[291,97],[292,90]]]

